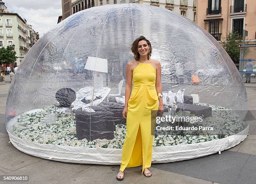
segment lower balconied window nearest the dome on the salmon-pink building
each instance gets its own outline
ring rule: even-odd
[[[222,21],[223,18],[219,19],[206,19],[205,21],[205,30],[208,30],[208,32],[216,39],[221,39],[222,34]]]

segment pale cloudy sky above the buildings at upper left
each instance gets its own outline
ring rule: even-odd
[[[61,0],[3,0],[7,10],[17,12],[39,37],[57,25],[62,15]]]

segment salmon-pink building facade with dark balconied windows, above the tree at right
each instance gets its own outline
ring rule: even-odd
[[[197,0],[197,21],[216,40],[225,40],[229,32],[237,31],[250,42],[256,41],[255,0]]]

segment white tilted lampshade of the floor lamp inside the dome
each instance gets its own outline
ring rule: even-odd
[[[84,69],[108,73],[108,60],[89,56]]]

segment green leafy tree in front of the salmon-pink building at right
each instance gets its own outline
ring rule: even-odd
[[[242,43],[242,36],[238,32],[229,32],[225,38],[226,41],[222,41],[224,49],[233,60],[234,63],[239,63],[240,48],[239,44]]]

